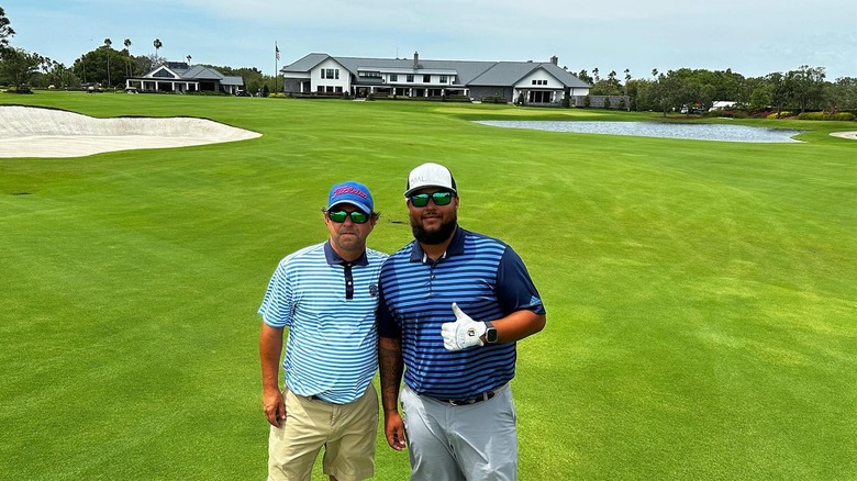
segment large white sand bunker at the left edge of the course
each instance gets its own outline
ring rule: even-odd
[[[94,119],[73,112],[0,105],[0,157],[82,157],[137,148],[246,141],[261,134],[192,118]]]

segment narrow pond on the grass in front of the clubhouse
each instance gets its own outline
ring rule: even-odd
[[[507,128],[531,128],[548,132],[633,135],[638,137],[689,138],[695,141],[790,143],[801,131],[748,127],[724,124],[672,124],[658,122],[550,122],[550,121],[477,121],[483,125]]]

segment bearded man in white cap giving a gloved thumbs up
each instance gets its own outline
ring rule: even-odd
[[[411,480],[514,480],[509,382],[515,342],[545,326],[538,291],[510,246],[458,226],[446,167],[413,169],[404,197],[414,242],[385,261],[379,281],[387,443],[408,445]]]

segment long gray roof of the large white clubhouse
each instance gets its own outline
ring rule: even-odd
[[[418,68],[412,58],[370,58],[332,57],[327,54],[309,54],[293,64],[282,67],[282,72],[309,72],[326,59],[340,63],[352,74],[379,70],[396,74],[448,74],[457,75],[458,85],[465,86],[511,86],[537,69],[546,70],[566,87],[589,88],[591,85],[580,80],[553,63],[537,61],[478,61],[478,60],[430,60],[418,59]]]

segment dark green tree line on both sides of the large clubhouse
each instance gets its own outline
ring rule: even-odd
[[[97,85],[108,88],[122,88],[125,79],[141,77],[166,61],[158,55],[164,46],[155,38],[154,54],[132,55],[134,45],[131,38],[122,42],[124,48],[113,48],[113,42],[104,38],[102,45],[82,54],[71,66],[52,60],[48,57],[30,53],[9,45],[14,35],[11,22],[0,7],[0,85],[15,87],[33,86],[58,89],[78,89]],[[192,57],[188,55],[188,64]],[[247,91],[252,93],[279,91],[278,78],[264,75],[255,67],[232,68],[211,66],[223,75],[241,76]],[[565,67],[567,69],[567,67]],[[590,72],[586,69],[577,74],[581,80],[592,85],[590,96],[625,96],[628,103],[622,108],[636,111],[680,111],[682,107],[695,107],[708,110],[713,102],[722,100],[735,102],[738,107],[752,111],[850,111],[857,113],[857,78],[843,77],[835,81],[826,80],[824,67],[803,65],[787,72],[771,72],[764,77],[744,77],[731,69],[704,70],[679,68],[666,74],[652,70],[652,77],[634,78],[628,69],[619,77],[611,70],[601,77],[598,67]],[[619,107],[617,104],[616,107]],[[688,109],[690,112],[690,109]]]

